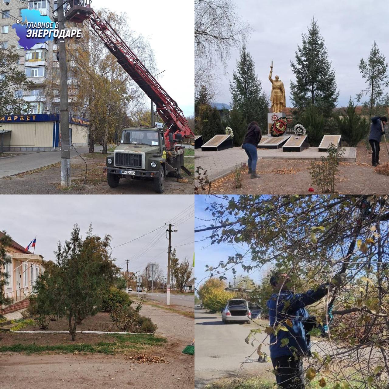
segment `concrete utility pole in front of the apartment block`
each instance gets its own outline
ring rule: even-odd
[[[58,29],[65,30],[63,0],[58,0]],[[60,123],[61,123],[61,187],[71,186],[69,144],[68,71],[66,65],[66,41],[58,40],[60,54]]]

